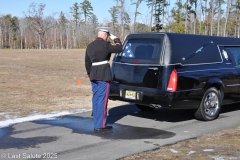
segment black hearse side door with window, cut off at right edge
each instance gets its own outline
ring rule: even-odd
[[[240,101],[240,46],[225,46],[222,50],[223,57],[228,59],[226,65],[233,65],[238,72],[237,81],[231,87],[237,93],[234,94],[237,101]],[[228,58],[225,57],[227,54]]]

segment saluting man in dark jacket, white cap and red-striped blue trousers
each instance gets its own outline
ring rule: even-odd
[[[115,42],[107,41],[108,36]],[[92,84],[92,108],[95,131],[111,130],[107,126],[107,104],[110,81],[112,79],[109,60],[111,53],[122,52],[119,38],[109,34],[108,28],[98,28],[98,37],[86,49],[85,67]]]

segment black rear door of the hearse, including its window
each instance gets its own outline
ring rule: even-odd
[[[128,89],[159,87],[159,59],[163,37],[164,35],[158,34],[145,35],[143,38],[138,38],[137,35],[128,37],[123,52],[115,56],[112,82],[127,86]]]

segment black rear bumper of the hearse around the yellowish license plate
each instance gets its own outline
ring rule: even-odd
[[[136,97],[134,99],[126,98],[126,91],[134,91]],[[158,105],[172,109],[195,109],[201,103],[202,95],[200,93],[202,93],[201,90],[168,92],[158,89],[111,84],[109,99],[147,106]]]

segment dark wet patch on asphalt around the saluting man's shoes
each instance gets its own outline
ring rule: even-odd
[[[155,128],[144,128],[122,124],[113,125],[112,131],[95,132],[93,130],[93,119],[80,116],[65,116],[54,120],[35,121],[37,124],[48,124],[72,129],[73,133],[99,136],[104,139],[166,139],[171,138],[175,133]]]

